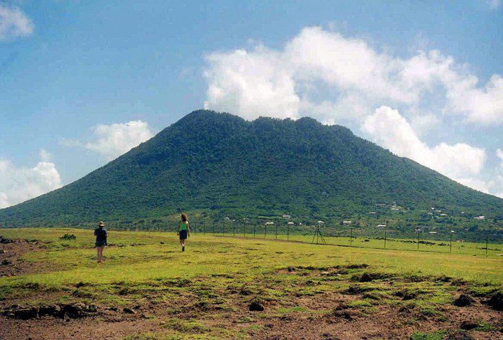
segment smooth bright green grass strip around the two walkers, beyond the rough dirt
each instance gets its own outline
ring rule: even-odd
[[[59,240],[73,233],[76,240]],[[111,233],[110,242],[121,246],[105,249],[106,264],[94,263],[92,231],[77,229],[3,229],[4,237],[36,239],[48,251],[29,253],[31,262],[51,262],[54,271],[40,275],[1,277],[0,287],[37,283],[47,287],[78,282],[110,284],[141,282],[166,277],[196,277],[236,273],[253,277],[287,266],[336,266],[369,264],[373,270],[401,275],[447,275],[475,282],[503,284],[503,259],[490,255],[316,246],[260,239],[192,235],[188,251],[179,252],[173,233]],[[165,242],[165,244],[160,244]],[[140,244],[131,246],[131,244]],[[493,253],[494,254],[494,253]],[[59,270],[57,270],[59,269]]]

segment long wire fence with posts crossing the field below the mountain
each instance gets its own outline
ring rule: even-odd
[[[176,221],[154,220],[130,224],[127,221],[110,222],[109,230],[176,232]],[[156,223],[157,222],[157,223]],[[341,225],[342,224],[342,225]],[[215,237],[244,237],[311,244],[331,244],[362,248],[383,248],[409,251],[432,251],[473,255],[503,255],[503,231],[485,230],[469,232],[466,229],[397,228],[378,224],[375,228],[362,228],[350,224],[308,224],[288,220],[191,220],[192,234]]]

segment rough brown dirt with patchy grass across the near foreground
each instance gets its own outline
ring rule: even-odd
[[[39,309],[38,315],[21,319],[15,310],[28,306],[10,308],[9,315],[4,309],[0,339],[122,339],[135,334],[138,339],[190,339],[191,334],[216,339],[236,334],[251,339],[411,339],[418,332],[435,331],[444,339],[503,337],[503,314],[486,304],[488,297],[471,296],[470,304],[455,306],[453,301],[467,294],[466,284],[453,286],[452,280],[431,277],[422,279],[424,286],[417,282],[365,266],[337,266],[285,268],[251,281],[236,275],[166,279],[151,282],[155,289],[145,291],[116,283],[103,288],[116,291],[125,304],[102,304],[92,311],[81,306],[82,315],[50,316]],[[444,295],[435,295],[437,289]],[[61,297],[45,294],[47,301]],[[445,295],[450,302],[434,302]],[[79,296],[73,298],[72,304],[78,303]],[[424,304],[427,299],[433,302]],[[3,301],[3,306],[13,302]]]

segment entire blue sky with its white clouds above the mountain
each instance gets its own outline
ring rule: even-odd
[[[81,178],[203,106],[346,125],[503,195],[502,7],[0,1],[0,207]]]

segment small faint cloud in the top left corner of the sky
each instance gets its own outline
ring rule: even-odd
[[[21,9],[0,3],[0,41],[29,36],[32,32],[33,23]]]

